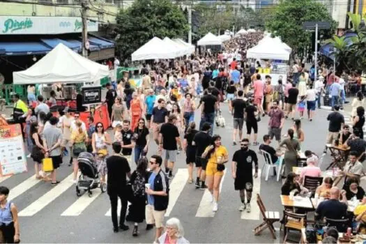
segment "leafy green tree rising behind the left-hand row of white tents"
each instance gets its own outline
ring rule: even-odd
[[[117,52],[130,58],[132,52],[158,38],[185,38],[188,21],[178,6],[169,0],[135,0],[130,8],[121,9],[116,17]]]

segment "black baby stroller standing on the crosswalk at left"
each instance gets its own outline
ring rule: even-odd
[[[88,192],[89,197],[93,195],[92,189],[100,187],[102,192],[107,190],[106,183],[100,183],[100,177],[98,174],[98,169],[96,167],[96,160],[91,153],[80,153],[77,157],[77,162],[79,164],[79,169],[82,174],[76,183],[76,195],[80,197],[84,192]]]

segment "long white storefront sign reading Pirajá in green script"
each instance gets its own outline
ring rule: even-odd
[[[98,17],[90,17],[88,31],[98,31]],[[0,35],[82,32],[81,17],[0,16]]]

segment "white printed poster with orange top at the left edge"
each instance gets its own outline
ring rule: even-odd
[[[0,126],[0,176],[27,171],[20,124]]]

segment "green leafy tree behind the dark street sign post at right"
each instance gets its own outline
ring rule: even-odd
[[[303,29],[303,23],[307,21],[330,22],[330,29],[319,31],[325,38],[330,38],[337,28],[337,22],[323,3],[315,0],[282,0],[266,20],[266,29],[273,36],[279,36],[296,53],[311,45],[312,33]]]

